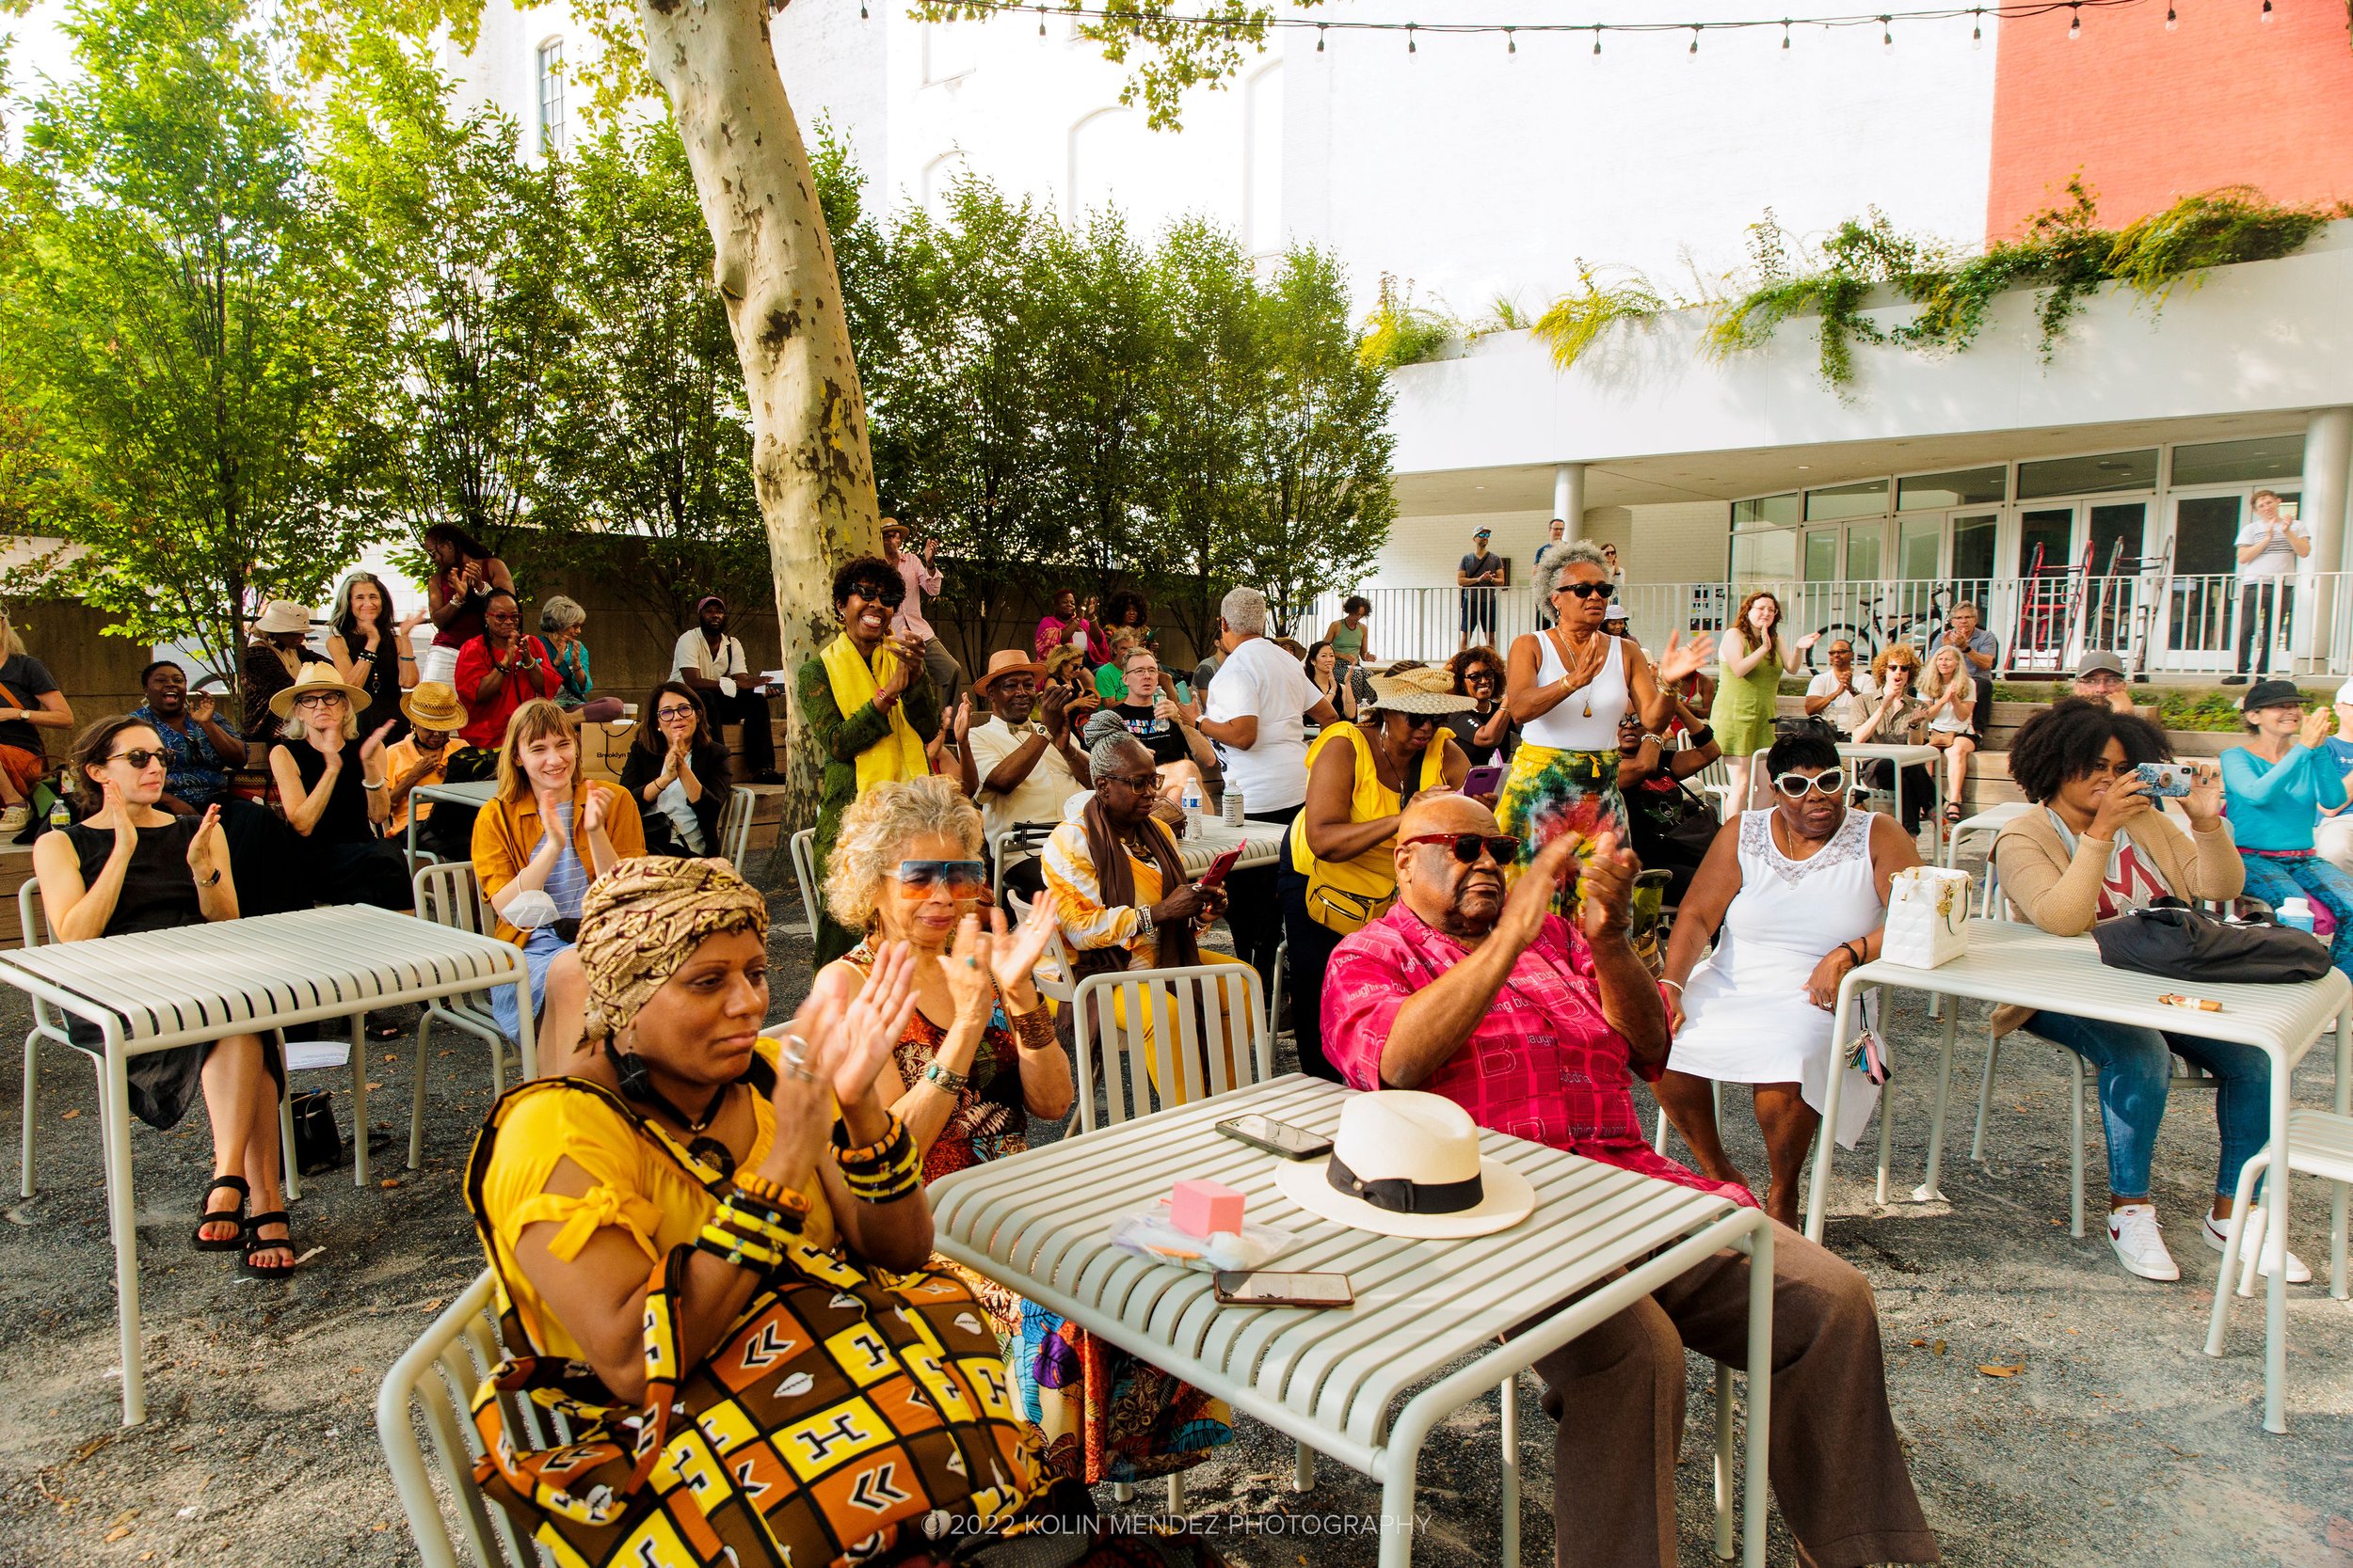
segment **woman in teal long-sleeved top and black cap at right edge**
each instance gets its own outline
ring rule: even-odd
[[[2327,708],[2304,712],[2294,682],[2254,682],[2242,705],[2247,745],[2221,755],[2224,816],[2247,863],[2247,896],[2273,910],[2304,896],[2337,917],[2329,961],[2353,976],[2353,877],[2313,853],[2322,809],[2346,804],[2346,780],[2322,748],[2337,726]]]

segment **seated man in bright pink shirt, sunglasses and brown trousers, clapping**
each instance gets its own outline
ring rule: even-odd
[[[1628,938],[1640,863],[1605,835],[1579,924],[1551,912],[1577,844],[1553,839],[1506,893],[1520,844],[1468,795],[1398,823],[1398,903],[1325,971],[1325,1058],[1355,1088],[1440,1093],[1492,1131],[1755,1204],[1657,1154],[1631,1077],[1666,1067],[1666,999]],[[1887,1413],[1880,1319],[1861,1272],[1777,1227],[1772,1488],[1817,1568],[1932,1563]],[[1748,1349],[1748,1258],[1718,1253],[1537,1361],[1553,1453],[1553,1561],[1673,1568],[1685,1347]],[[1751,1436],[1751,1441],[1755,1441]]]

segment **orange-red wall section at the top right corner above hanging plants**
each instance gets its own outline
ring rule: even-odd
[[[2275,202],[2353,197],[2344,0],[2165,0],[2005,21],[1986,237],[2064,200],[2075,169],[2115,226],[2214,186]]]

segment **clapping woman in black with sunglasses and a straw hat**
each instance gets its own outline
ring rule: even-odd
[[[367,693],[339,682],[327,665],[306,668],[301,679],[271,698],[271,712],[285,719],[271,750],[271,778],[278,780],[287,827],[301,837],[289,882],[308,903],[372,903],[407,912],[416,903],[409,867],[400,846],[384,837],[391,818],[384,736],[391,724],[360,741],[358,715],[365,708]]]

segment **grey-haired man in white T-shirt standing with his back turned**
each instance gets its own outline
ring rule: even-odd
[[[1289,825],[1308,804],[1306,719],[1339,724],[1339,715],[1299,661],[1266,639],[1266,595],[1257,588],[1235,588],[1217,607],[1217,646],[1226,661],[1209,682],[1195,729],[1217,743],[1226,788],[1242,792],[1245,813],[1254,823]],[[1275,947],[1282,943],[1275,867],[1233,872],[1226,886],[1233,893],[1226,905],[1233,950],[1273,987]]]

